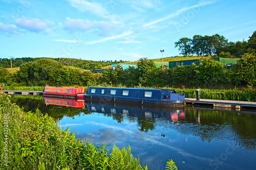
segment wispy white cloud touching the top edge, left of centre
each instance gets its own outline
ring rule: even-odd
[[[79,11],[87,12],[90,11],[98,16],[106,17],[108,11],[106,11],[99,3],[91,3],[83,0],[67,0],[72,7],[75,7]]]

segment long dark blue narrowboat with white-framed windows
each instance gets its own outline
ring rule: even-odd
[[[185,92],[174,89],[88,87],[85,99],[153,106],[185,106]]]

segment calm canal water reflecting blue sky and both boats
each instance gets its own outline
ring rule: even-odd
[[[48,100],[48,101],[47,101]],[[164,169],[173,159],[178,169],[256,169],[256,110],[216,108],[157,108],[92,103],[39,96],[12,96],[25,111],[39,108],[59,119],[62,129],[111,150],[132,148],[148,169]],[[58,102],[56,102],[58,101]],[[46,105],[45,103],[58,103]]]

